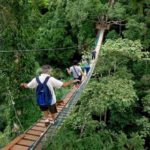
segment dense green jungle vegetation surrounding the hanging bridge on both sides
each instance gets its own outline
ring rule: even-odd
[[[46,63],[65,78],[57,72],[94,47],[96,23],[109,23],[93,78],[50,148],[148,149],[149,6],[146,0],[1,0],[0,146],[41,115],[34,92],[20,83]]]

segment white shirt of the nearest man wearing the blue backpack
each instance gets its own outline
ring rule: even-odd
[[[48,74],[41,74],[39,76],[39,80],[41,81],[41,83],[43,83],[45,81],[47,76],[49,76],[49,75]],[[48,88],[50,89],[50,91],[52,93],[52,104],[51,105],[56,103],[56,95],[55,95],[55,92],[54,92],[54,88],[60,88],[60,87],[62,87],[62,85],[63,85],[63,82],[61,82],[60,80],[57,80],[54,77],[49,78],[49,80],[47,82],[47,86],[48,86]],[[38,83],[36,81],[36,78],[33,78],[31,80],[31,82],[29,82],[27,84],[27,86],[31,89],[37,88]]]

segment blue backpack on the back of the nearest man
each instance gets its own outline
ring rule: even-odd
[[[52,102],[52,94],[50,89],[47,86],[47,82],[49,80],[49,76],[46,77],[43,83],[40,82],[39,77],[36,77],[36,81],[38,86],[36,88],[36,97],[37,97],[37,104],[39,106],[49,106]]]

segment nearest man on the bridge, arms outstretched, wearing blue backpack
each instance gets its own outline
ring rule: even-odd
[[[62,82],[50,76],[50,66],[44,65],[41,67],[41,74],[33,78],[29,83],[21,83],[21,87],[36,89],[37,104],[42,112],[44,112],[45,122],[50,122],[50,116],[54,123],[55,115],[57,113],[56,95],[54,88],[61,88],[76,83],[78,80],[70,80]]]

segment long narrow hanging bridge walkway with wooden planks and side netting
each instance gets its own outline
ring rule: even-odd
[[[45,126],[45,120],[43,118],[39,119],[31,128],[25,131],[24,134],[15,138],[10,144],[4,147],[2,150],[41,150],[46,147],[51,138],[56,134],[58,129],[63,125],[65,118],[70,114],[74,106],[76,105],[78,99],[87,83],[89,82],[93,70],[95,68],[99,50],[102,44],[102,39],[104,35],[104,30],[99,30],[99,34],[96,40],[96,59],[91,61],[91,69],[88,77],[82,82],[80,87],[77,89],[73,87],[70,92],[64,97],[62,103],[57,104],[57,116],[55,117],[55,123]]]

